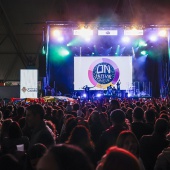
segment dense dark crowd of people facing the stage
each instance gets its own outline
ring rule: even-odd
[[[170,98],[1,102],[1,170],[169,170]]]

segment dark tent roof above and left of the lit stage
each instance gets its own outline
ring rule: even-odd
[[[1,0],[0,80],[19,80],[35,61],[46,21],[169,24],[169,0]]]

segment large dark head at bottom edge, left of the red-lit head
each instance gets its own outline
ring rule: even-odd
[[[40,159],[37,170],[93,170],[88,156],[78,147],[69,144],[53,146]]]

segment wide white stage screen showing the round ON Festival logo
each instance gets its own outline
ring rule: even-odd
[[[92,90],[105,90],[115,86],[120,80],[120,90],[132,86],[131,56],[74,57],[74,90],[82,90],[85,85]]]

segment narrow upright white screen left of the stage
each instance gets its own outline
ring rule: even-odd
[[[37,98],[38,96],[38,70],[20,70],[20,98]]]

